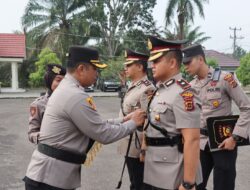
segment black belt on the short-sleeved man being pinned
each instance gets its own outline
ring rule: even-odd
[[[147,146],[174,146],[182,142],[182,136],[174,137],[146,137]]]

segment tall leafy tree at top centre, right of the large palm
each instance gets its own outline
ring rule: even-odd
[[[83,11],[89,23],[99,28],[98,43],[102,53],[114,57],[121,49],[124,36],[130,30],[153,31],[152,16],[156,0],[90,0]]]

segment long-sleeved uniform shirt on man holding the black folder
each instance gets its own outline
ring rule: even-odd
[[[202,100],[201,128],[206,129],[208,117],[232,115],[232,100],[240,110],[233,134],[247,138],[250,125],[250,102],[231,73],[222,71],[218,81],[213,81],[214,69],[210,67],[205,79],[194,79],[191,84],[199,92]],[[208,137],[201,136],[201,149],[204,150]]]

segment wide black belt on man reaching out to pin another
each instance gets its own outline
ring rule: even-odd
[[[67,150],[57,149],[46,144],[39,143],[37,149],[42,154],[64,162],[69,162],[73,164],[83,164],[86,160],[86,154],[77,154]]]

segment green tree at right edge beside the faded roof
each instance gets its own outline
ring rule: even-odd
[[[237,68],[236,74],[243,86],[250,84],[250,53],[240,59],[240,66]]]

